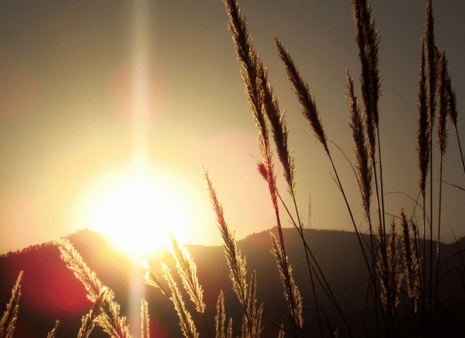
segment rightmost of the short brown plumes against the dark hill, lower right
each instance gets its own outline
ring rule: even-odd
[[[412,223],[412,226],[414,224]],[[414,302],[414,311],[418,312],[420,308],[420,263],[418,262],[418,256],[414,248],[414,240],[410,234],[409,221],[405,217],[405,212],[401,208],[401,229],[402,229],[402,253],[404,257],[405,266],[405,280],[407,282],[407,295]],[[414,229],[415,231],[415,229]]]

